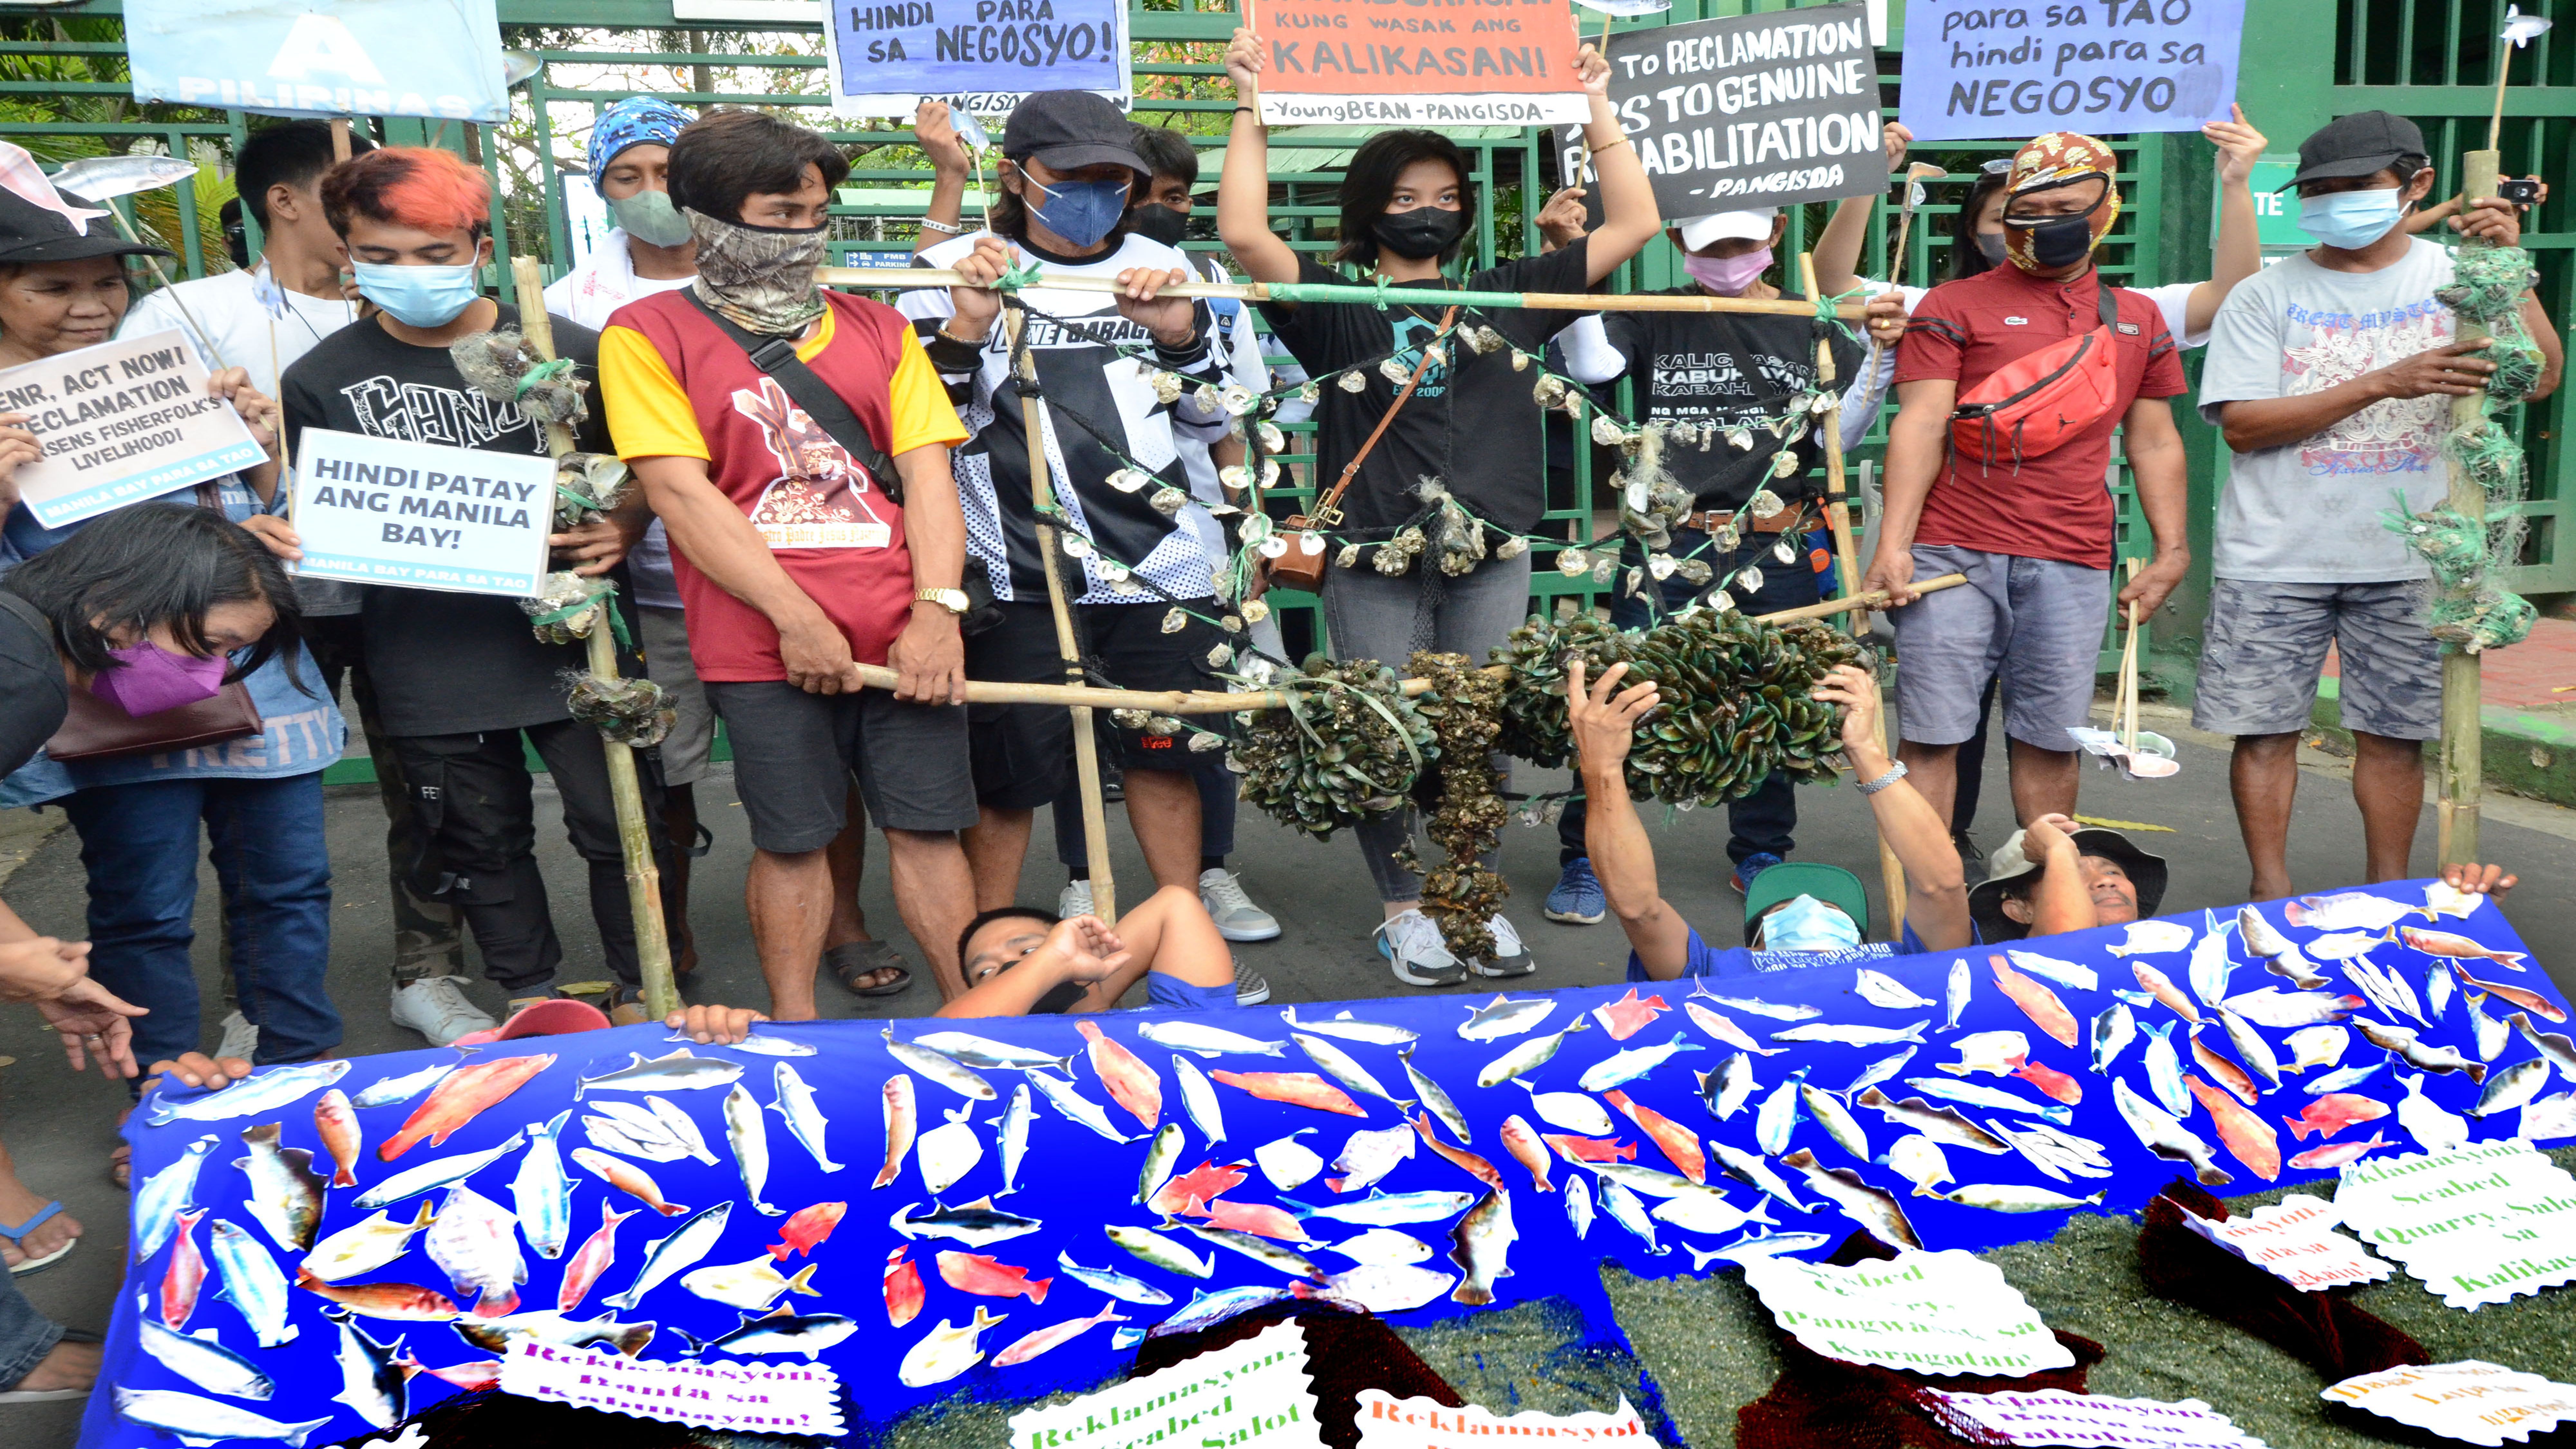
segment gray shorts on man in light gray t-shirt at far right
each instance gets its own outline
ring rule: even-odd
[[[2195,730],[2306,730],[2334,645],[2344,730],[2385,740],[2442,735],[2442,645],[2424,632],[2424,583],[2221,578],[2205,632]]]

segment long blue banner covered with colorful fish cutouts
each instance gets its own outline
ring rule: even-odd
[[[1425,1323],[1597,1263],[1924,1248],[2576,1134],[2566,998],[2401,882],[1927,957],[1288,1011],[631,1026],[149,1093],[82,1444],[332,1444],[513,1338],[819,1361],[853,1441],[1280,1297]]]

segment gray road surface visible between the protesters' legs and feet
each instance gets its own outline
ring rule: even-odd
[[[2081,812],[2107,820],[2136,820],[2161,825],[2169,833],[2141,833],[2138,841],[2172,861],[2172,890],[2164,910],[2197,905],[2233,905],[2244,897],[2246,869],[2236,841],[2236,817],[2228,804],[2226,750],[2221,740],[2192,735],[2172,712],[2154,717],[2148,727],[2164,730],[2182,743],[2182,773],[2166,781],[2123,781],[2117,773],[2087,771]],[[1558,771],[1525,771],[1522,789],[1558,789]],[[2004,763],[1996,750],[1989,763],[1986,812],[1978,841],[1994,846],[2007,833]],[[752,957],[742,913],[742,869],[750,859],[739,804],[732,797],[732,779],[711,779],[698,786],[701,812],[714,825],[716,848],[698,864],[696,926],[703,967],[693,977],[696,1000],[724,1000],[737,1006],[762,1006],[760,969]],[[544,784],[541,784],[544,799]],[[1803,822],[1798,830],[1798,856],[1847,864],[1878,890],[1875,846],[1862,799],[1850,786],[1801,792]],[[551,804],[541,807],[544,820],[554,820]],[[1739,938],[1739,905],[1726,887],[1726,833],[1716,812],[1674,815],[1662,812],[1649,820],[1654,828],[1662,887],[1713,944]],[[420,1039],[386,1021],[386,959],[389,913],[384,897],[384,815],[374,786],[345,786],[335,792],[327,810],[332,859],[340,861],[337,931],[332,933],[330,990],[348,1018],[350,1055],[392,1052],[420,1047]],[[1036,833],[1041,851],[1033,853],[1020,877],[1020,900],[1054,905],[1064,871],[1051,859],[1051,835],[1041,825]],[[0,841],[0,864],[13,853]],[[1412,987],[1399,985],[1370,949],[1370,931],[1378,908],[1360,864],[1358,846],[1347,838],[1311,843],[1262,817],[1247,815],[1242,822],[1234,866],[1244,874],[1252,897],[1273,910],[1285,926],[1278,941],[1244,946],[1242,957],[1270,977],[1273,1003],[1342,1000],[1365,995],[1394,995]],[[2486,815],[2486,846],[2491,859],[2514,866],[2524,887],[2514,895],[2509,915],[2527,941],[2535,944],[2550,975],[2568,987],[2576,975],[2576,957],[2555,944],[2576,938],[2576,892],[2566,890],[2576,879],[2576,812],[2517,799],[2491,799]],[[598,938],[590,913],[580,902],[580,861],[551,830],[538,846],[546,877],[556,884],[556,928],[564,933],[567,980],[605,975],[598,969]],[[1136,843],[1118,825],[1113,807],[1113,851],[1121,884],[1133,892],[1144,879],[1144,861]],[[2419,871],[2432,861],[2432,810],[2424,810],[2416,841]],[[2300,890],[2329,890],[2352,884],[2362,871],[2360,822],[2352,812],[2349,779],[2339,761],[2311,753],[2300,779],[2300,799],[2293,828],[2293,866]],[[1538,957],[1538,975],[1520,982],[1528,987],[1595,985],[1618,980],[1625,964],[1625,944],[1615,923],[1566,928],[1538,915],[1538,902],[1556,882],[1556,833],[1512,828],[1504,835],[1504,869],[1512,882],[1510,915]],[[5,884],[8,902],[39,931],[82,936],[82,869],[77,841],[59,833],[33,848],[15,877]],[[860,895],[868,923],[876,933],[894,938],[914,962],[917,949],[902,928],[886,887],[881,859],[871,861]],[[198,975],[206,998],[216,1000],[214,975],[214,877],[204,877],[198,905]],[[922,972],[917,972],[922,975]],[[1461,1006],[1479,995],[1476,985],[1450,987]],[[474,985],[477,1000],[500,1008],[500,993]],[[927,980],[912,993],[891,1000],[858,1000],[835,985],[822,987],[827,1016],[914,1016],[935,1006]],[[209,1011],[206,1047],[214,1047],[214,1018]],[[116,1292],[124,1250],[126,1194],[116,1191],[106,1176],[108,1150],[116,1145],[116,1114],[126,1096],[121,1085],[100,1078],[72,1078],[62,1067],[59,1049],[39,1031],[31,1011],[0,1011],[0,1055],[18,1057],[0,1073],[0,1129],[18,1155],[21,1176],[44,1194],[59,1196],[67,1209],[88,1225],[82,1245],[54,1269],[21,1279],[39,1310],[62,1323],[103,1328],[108,1302]],[[0,1444],[23,1449],[52,1449],[72,1441],[80,1418],[77,1403],[0,1408]]]

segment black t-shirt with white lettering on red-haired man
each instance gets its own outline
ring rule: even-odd
[[[502,307],[492,327],[515,327]],[[613,451],[595,392],[600,335],[554,317],[554,351],[592,382],[582,451]],[[546,454],[546,431],[515,405],[466,387],[446,348],[399,343],[374,320],[304,353],[278,382],[286,433],[366,433],[487,454]],[[299,449],[301,451],[301,449]],[[544,645],[515,598],[368,585],[361,606],[366,676],[389,735],[471,735],[569,719],[559,670],[582,668],[582,645]]]

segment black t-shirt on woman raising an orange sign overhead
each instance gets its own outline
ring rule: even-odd
[[[1468,291],[1589,291],[1587,248],[1571,248],[1520,258],[1466,278]],[[1350,284],[1347,276],[1298,258],[1301,284]],[[1422,345],[1440,330],[1448,309],[1440,291],[1453,291],[1445,281],[1406,281],[1394,289],[1406,302],[1388,302],[1378,312],[1368,302],[1298,302],[1293,307],[1265,302],[1262,315],[1280,343],[1314,376],[1350,364],[1381,358],[1388,351],[1409,371],[1422,358]],[[1412,302],[1419,297],[1419,302]],[[1525,351],[1538,351],[1566,325],[1564,312],[1538,312],[1528,307],[1497,307],[1494,312],[1461,312],[1458,330],[1494,327]],[[1481,518],[1528,534],[1546,511],[1546,436],[1530,389],[1535,371],[1512,371],[1512,356],[1473,353],[1450,338],[1448,364],[1422,374],[1422,387],[1404,402],[1396,420],[1368,451],[1360,477],[1350,480],[1342,495],[1342,534],[1365,539],[1383,536],[1422,511],[1414,490],[1425,477],[1437,477],[1461,503]],[[1350,456],[1360,451],[1368,433],[1386,415],[1401,392],[1376,364],[1360,371],[1365,392],[1342,392],[1342,379],[1327,379],[1316,402],[1316,490],[1329,490]]]

